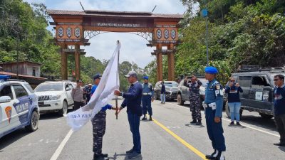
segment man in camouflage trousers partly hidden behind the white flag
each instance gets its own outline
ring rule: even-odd
[[[92,94],[95,92],[96,88],[99,85],[100,79],[102,75],[96,74],[94,76],[94,85],[92,87]],[[103,143],[103,136],[105,134],[106,129],[106,110],[116,110],[115,107],[111,105],[105,105],[102,107],[98,114],[95,114],[95,117],[91,119],[92,126],[93,126],[93,160],[108,160],[108,154],[102,154],[102,143]]]

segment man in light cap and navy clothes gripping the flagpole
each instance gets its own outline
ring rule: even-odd
[[[142,107],[140,104],[142,102],[142,85],[138,82],[138,75],[135,71],[130,71],[125,77],[128,78],[128,82],[131,84],[128,92],[115,90],[114,94],[125,98],[118,112],[127,107],[130,131],[133,134],[133,148],[126,151],[126,154],[129,155],[129,159],[135,159],[141,155],[140,116],[142,116]]]

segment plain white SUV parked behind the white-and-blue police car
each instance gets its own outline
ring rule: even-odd
[[[68,107],[73,107],[74,102],[71,96],[73,85],[70,81],[43,82],[35,88],[38,96],[38,106],[41,112],[58,111],[65,115]]]

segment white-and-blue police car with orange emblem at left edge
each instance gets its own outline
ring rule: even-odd
[[[0,75],[0,138],[25,127],[28,131],[38,129],[38,99],[24,80],[9,80]]]

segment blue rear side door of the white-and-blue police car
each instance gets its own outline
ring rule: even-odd
[[[18,113],[19,121],[21,124],[28,122],[28,110],[31,108],[32,98],[28,96],[26,89],[20,85],[11,85],[15,93],[16,99],[19,103],[14,104],[16,112]]]

